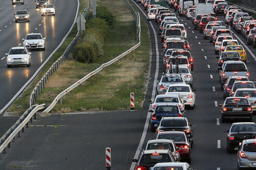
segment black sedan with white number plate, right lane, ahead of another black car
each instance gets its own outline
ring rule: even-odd
[[[253,111],[250,101],[245,97],[227,97],[221,109],[221,120],[226,122],[227,119],[242,119],[252,121]]]

